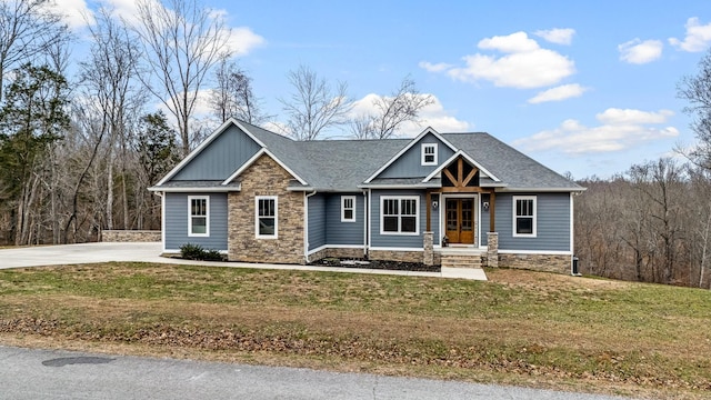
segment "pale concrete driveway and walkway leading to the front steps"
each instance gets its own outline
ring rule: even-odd
[[[189,261],[160,257],[161,243],[80,243],[0,249],[0,269],[94,263],[110,261],[159,262],[188,266],[280,269],[299,271],[328,271],[348,273],[374,273],[409,277],[437,277],[469,280],[487,280],[482,269],[442,268],[441,272],[393,271],[367,268],[317,267],[298,264],[269,264],[247,262]]]

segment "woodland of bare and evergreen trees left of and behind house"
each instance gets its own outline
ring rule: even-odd
[[[130,23],[97,10],[88,54],[73,66],[78,38],[49,3],[0,2],[0,244],[159,229],[160,199],[148,187],[229,118],[276,119],[230,51],[224,21],[198,0],[138,0]],[[405,77],[372,113],[352,117],[344,82],[307,66],[288,79],[281,133],[298,140],[334,129],[387,138],[433,102]],[[197,113],[204,92],[210,116]]]

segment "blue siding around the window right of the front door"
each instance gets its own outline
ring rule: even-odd
[[[497,193],[500,250],[570,251],[570,193],[515,193],[537,197],[535,238],[513,237],[513,196]]]

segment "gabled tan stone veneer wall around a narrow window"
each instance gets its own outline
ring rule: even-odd
[[[293,179],[263,154],[240,176],[242,189],[228,194],[228,260],[304,263],[303,193],[287,190]],[[277,196],[277,239],[257,239],[254,197]]]

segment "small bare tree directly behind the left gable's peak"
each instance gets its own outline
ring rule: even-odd
[[[224,122],[233,117],[258,124],[269,118],[262,113],[260,101],[254,97],[252,78],[237,62],[222,58],[214,78],[217,88],[210,93],[210,106],[220,121]]]

